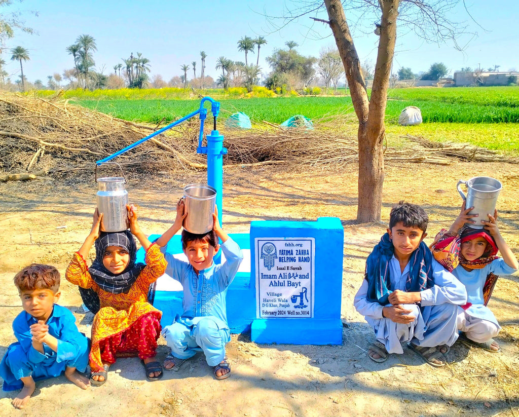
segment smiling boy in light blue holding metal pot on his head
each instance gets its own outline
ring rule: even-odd
[[[176,207],[175,223],[158,240],[168,262],[166,273],[180,281],[184,288],[182,316],[176,315],[173,324],[162,330],[162,335],[171,348],[171,355],[163,364],[166,370],[178,369],[187,359],[203,351],[209,366],[214,367],[216,379],[230,375],[230,365],[225,357],[225,344],[230,341],[227,325],[227,287],[233,281],[243,255],[238,244],[229,238],[213,214],[213,230],[205,234],[182,231],[182,249],[189,263],[166,252],[166,244],[180,230],[185,218],[184,203]],[[226,261],[213,263],[222,241]]]

